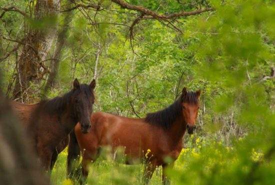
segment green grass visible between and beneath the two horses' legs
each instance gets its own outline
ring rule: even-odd
[[[161,167],[158,167],[153,173],[150,184],[161,184],[161,174]],[[126,165],[100,156],[89,166],[87,184],[142,184],[142,176],[143,164]],[[72,183],[66,179],[66,149],[58,155],[51,172],[51,182],[52,184]]]

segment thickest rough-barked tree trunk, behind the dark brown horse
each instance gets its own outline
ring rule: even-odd
[[[25,28],[24,45],[17,63],[17,75],[13,89],[14,99],[24,102],[27,98],[30,81],[39,81],[47,72],[43,61],[56,35],[59,7],[60,0],[36,1],[34,22],[31,23],[31,26],[45,25],[38,28]]]

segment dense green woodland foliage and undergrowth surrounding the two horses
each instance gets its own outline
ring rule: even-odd
[[[201,89],[196,133],[185,134],[185,148],[167,171],[172,184],[275,184],[272,0],[123,1],[161,15],[209,8],[169,19],[122,8],[116,3],[121,0],[63,0],[60,13],[37,19],[40,1],[0,1],[0,82],[6,96],[36,102],[67,91],[76,77],[95,78],[94,111],[142,117],[172,103],[183,86]],[[24,92],[14,93],[26,35],[50,32],[55,24],[47,53],[34,57],[34,77]],[[37,44],[40,51],[43,45]],[[65,157],[63,151],[53,183],[71,183]],[[91,165],[90,184],[141,183],[142,165],[110,158],[106,154]],[[159,171],[152,184],[160,183]]]

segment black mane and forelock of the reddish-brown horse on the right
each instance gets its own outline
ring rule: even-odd
[[[196,97],[195,92],[192,91],[188,91],[184,96],[181,94],[168,107],[156,112],[148,113],[145,117],[145,121],[150,124],[162,126],[166,129],[171,127],[176,118],[182,116],[182,102],[197,104],[198,98]]]

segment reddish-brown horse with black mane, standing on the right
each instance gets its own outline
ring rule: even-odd
[[[149,182],[155,167],[160,165],[162,182],[169,182],[165,168],[172,167],[173,161],[177,159],[183,147],[182,138],[185,130],[192,134],[195,129],[199,95],[200,90],[187,91],[184,87],[181,95],[171,105],[148,113],[145,118],[128,118],[104,112],[92,113],[91,129],[87,134],[81,132],[80,124],[74,128],[82,155],[82,178],[85,180],[88,164],[96,159],[101,146],[111,146],[113,152],[121,146],[127,156],[126,164],[131,164],[131,159],[141,158],[145,161],[145,183]],[[73,152],[73,147],[75,152],[77,143],[72,142],[73,140],[69,144],[69,154]],[[167,157],[172,162],[167,163]]]

